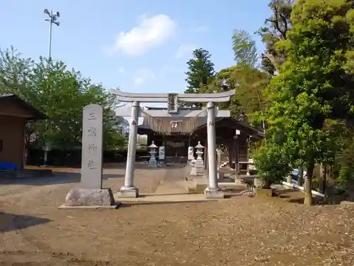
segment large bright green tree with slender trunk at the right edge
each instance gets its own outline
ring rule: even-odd
[[[289,163],[304,163],[305,204],[312,204],[315,163],[333,162],[336,138],[329,119],[353,121],[353,2],[298,0],[292,28],[277,43],[287,60],[268,87],[267,143],[289,151]]]

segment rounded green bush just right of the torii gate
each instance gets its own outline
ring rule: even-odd
[[[254,155],[258,174],[261,176],[263,188],[282,181],[291,171],[290,163],[282,148],[276,145],[264,145]]]

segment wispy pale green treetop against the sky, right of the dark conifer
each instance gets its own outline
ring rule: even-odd
[[[232,35],[232,50],[237,64],[255,67],[258,60],[256,42],[244,30],[236,29]]]

